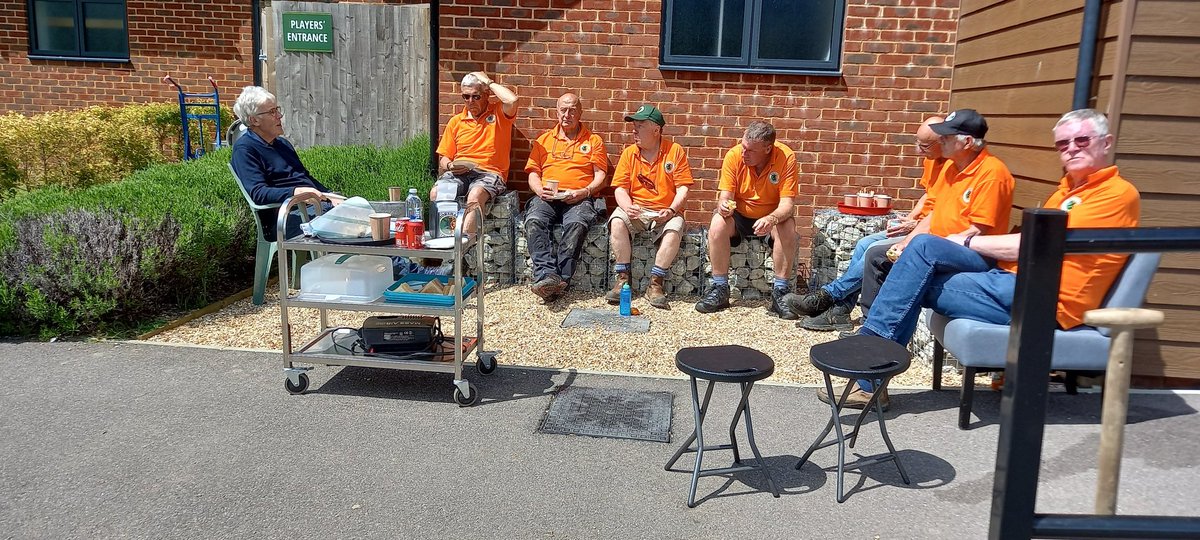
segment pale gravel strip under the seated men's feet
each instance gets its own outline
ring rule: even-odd
[[[278,294],[268,288],[266,304],[254,306],[239,300],[221,311],[197,318],[148,341],[281,350]],[[692,305],[697,298],[671,298],[671,310],[650,307],[635,296],[640,317],[650,319],[647,334],[617,334],[598,328],[563,329],[571,308],[611,308],[601,295],[570,293],[551,305],[541,305],[526,286],[493,286],[486,290],[484,337],[487,350],[499,350],[502,365],[577,368],[653,376],[678,376],[674,353],[683,347],[742,344],[762,350],[775,360],[775,374],[768,380],[822,384],[820,372],[809,364],[811,346],[835,340],[836,332],[812,332],[793,322],[769,316],[762,301],[737,301],[720,313],[701,314]],[[472,305],[473,306],[473,305]],[[316,335],[316,310],[295,308],[290,313],[293,336]],[[359,326],[361,312],[330,312],[334,325]],[[467,312],[467,328],[474,328],[474,310]],[[450,332],[452,320],[444,320]],[[919,362],[893,380],[896,386],[929,388],[931,372]],[[943,383],[960,384],[947,374]]]

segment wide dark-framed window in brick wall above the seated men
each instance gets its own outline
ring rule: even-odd
[[[666,0],[660,67],[840,74],[846,0]]]

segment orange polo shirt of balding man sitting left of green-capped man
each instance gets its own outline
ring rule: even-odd
[[[562,126],[554,126],[538,137],[529,150],[527,173],[538,173],[542,180],[558,180],[560,190],[582,190],[595,179],[596,170],[608,172],[608,152],[600,136],[580,126],[574,140],[559,137]]]

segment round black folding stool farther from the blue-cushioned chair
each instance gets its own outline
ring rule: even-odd
[[[671,461],[664,468],[672,470],[671,467],[679,460],[679,456],[683,456],[684,452],[696,452],[696,464],[691,472],[691,488],[688,491],[688,508],[696,508],[696,482],[700,481],[701,476],[731,474],[742,470],[762,470],[762,475],[767,476],[767,484],[770,486],[770,493],[779,497],[775,481],[770,479],[767,464],[762,461],[758,446],[754,443],[754,424],[750,421],[750,390],[754,388],[755,380],[766,379],[775,372],[775,362],[770,356],[742,346],[689,347],[679,349],[676,353],[676,367],[691,377],[691,410],[696,418],[696,430],[679,446],[679,450],[676,451],[674,456],[671,457]],[[697,378],[708,380],[703,403],[701,403],[700,392],[696,389]],[[740,384],[742,402],[738,403],[737,410],[733,412],[733,422],[730,424],[730,444],[704,446],[702,427],[704,425],[704,414],[708,413],[708,400],[713,397],[713,385],[715,383]],[[746,419],[746,438],[750,439],[750,451],[754,452],[755,461],[758,463],[756,466],[740,464],[742,456],[738,454],[738,440],[733,431],[738,427],[738,416],[743,415]],[[691,448],[692,442],[696,443],[696,448]],[[720,469],[701,469],[700,466],[704,458],[706,450],[733,450],[733,463],[738,466]]]

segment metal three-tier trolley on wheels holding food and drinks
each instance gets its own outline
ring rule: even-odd
[[[293,197],[284,202],[280,208],[278,220],[277,220],[277,233],[278,236],[283,238],[284,226],[288,214],[293,209],[304,210],[306,205],[316,209],[316,214],[322,214],[320,200],[313,194],[301,194]],[[482,223],[482,212],[480,209],[470,209],[469,211],[479,212],[476,214],[476,223]],[[456,220],[454,240],[455,247],[448,250],[409,250],[402,247],[392,246],[355,246],[355,245],[340,245],[340,244],[325,244],[320,240],[307,238],[307,236],[295,236],[286,239],[280,242],[278,250],[278,271],[280,271],[280,325],[283,334],[283,372],[284,388],[292,394],[301,394],[308,388],[308,374],[306,373],[312,367],[298,367],[295,362],[302,364],[314,364],[324,366],[361,366],[361,367],[379,367],[386,370],[414,370],[414,371],[431,371],[431,372],[443,372],[454,373],[454,401],[462,407],[473,406],[479,402],[479,392],[475,386],[470,384],[463,377],[463,360],[470,354],[475,353],[476,361],[475,368],[479,370],[481,374],[491,374],[496,371],[496,353],[484,350],[484,250],[475,250],[476,268],[479,269],[478,275],[469,276],[474,277],[475,287],[463,293],[463,288],[456,288],[454,293],[454,304],[448,306],[424,306],[413,304],[400,304],[385,301],[383,296],[368,301],[368,302],[352,302],[352,301],[313,301],[305,300],[301,295],[289,295],[288,294],[288,260],[287,253],[289,251],[308,251],[318,253],[355,253],[355,254],[376,254],[376,256],[401,256],[401,257],[427,257],[438,259],[454,258],[454,277],[458,283],[463,283],[463,257],[468,248],[478,242],[478,240],[472,240],[469,244],[462,241],[462,223],[463,223],[463,210],[458,211]],[[466,302],[468,300],[475,301],[475,336],[463,335],[463,312],[467,308]],[[293,346],[292,341],[292,325],[288,319],[288,308],[293,307],[306,307],[316,308],[320,314],[320,331],[318,335],[299,348]],[[329,325],[329,310],[337,311],[364,311],[364,312],[383,312],[383,313],[397,313],[397,314],[421,314],[421,316],[434,316],[440,318],[452,318],[454,319],[454,361],[436,361],[428,360],[428,356],[414,356],[404,354],[367,354],[362,352],[352,352],[344,347],[325,347],[320,348],[320,343],[336,343],[337,336],[335,332],[338,331],[337,328],[330,328]],[[449,354],[449,353],[446,353]]]

